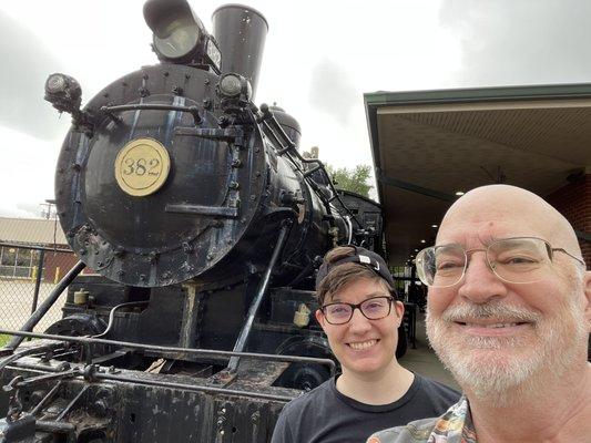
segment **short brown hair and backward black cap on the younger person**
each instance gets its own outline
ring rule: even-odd
[[[333,296],[349,282],[367,278],[381,281],[394,298],[394,279],[384,259],[365,248],[354,245],[337,246],[326,253],[316,277],[316,297],[323,306],[327,296]]]

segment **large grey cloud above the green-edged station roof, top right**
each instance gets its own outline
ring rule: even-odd
[[[440,20],[461,40],[465,85],[588,82],[591,2],[444,0]]]

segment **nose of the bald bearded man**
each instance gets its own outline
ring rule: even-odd
[[[473,303],[486,303],[507,295],[505,282],[492,271],[483,251],[471,255],[458,295]]]

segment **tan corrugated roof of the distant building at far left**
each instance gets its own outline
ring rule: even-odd
[[[0,217],[0,241],[67,246],[58,220]]]

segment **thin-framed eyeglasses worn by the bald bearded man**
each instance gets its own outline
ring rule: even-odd
[[[487,264],[501,280],[530,284],[543,278],[554,253],[563,253],[584,266],[584,261],[562,248],[553,248],[536,237],[503,238],[483,249],[466,250],[459,245],[431,246],[417,254],[417,274],[425,285],[446,288],[458,284],[466,274],[469,256],[483,251]]]

